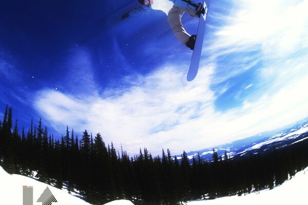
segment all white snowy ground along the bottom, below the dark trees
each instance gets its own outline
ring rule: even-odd
[[[0,204],[23,204],[23,187],[33,187],[33,204],[42,204],[36,202],[41,196],[43,191],[48,187],[51,193],[57,200],[57,205],[86,205],[89,204],[84,200],[68,194],[66,191],[54,188],[39,182],[33,178],[6,173],[2,167],[0,167]],[[230,196],[222,197],[215,200],[199,200],[190,201],[187,205],[221,205],[221,204],[292,204],[292,203],[304,203],[308,201],[308,168],[297,173],[294,178],[283,183],[283,185],[273,189],[264,190],[260,193],[247,194],[245,196]],[[133,205],[128,200],[116,200],[108,205]]]

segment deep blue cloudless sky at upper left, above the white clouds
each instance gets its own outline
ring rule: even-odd
[[[76,94],[80,90],[74,88],[79,85],[92,94],[91,89],[83,88],[82,79],[69,77],[70,69],[91,67],[92,88],[102,93],[106,87],[129,86],[120,79],[146,75],[166,60],[181,64],[178,52],[186,55],[189,63],[191,52],[172,34],[165,13],[152,10],[121,22],[129,5],[138,2],[2,1],[0,48],[18,73],[15,78],[2,79],[0,106],[13,106],[14,116],[28,127],[29,119],[38,120],[40,115],[31,107],[37,90],[56,88]],[[184,16],[183,22],[187,20],[190,17]],[[91,65],[72,60],[85,52]]]

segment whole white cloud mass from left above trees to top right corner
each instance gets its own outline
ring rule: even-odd
[[[190,83],[186,69],[166,63],[146,76],[124,77],[117,82],[123,87],[87,98],[69,90],[42,90],[34,106],[61,132],[66,125],[101,132],[107,143],[122,143],[129,153],[147,147],[154,154],[161,148],[177,154],[286,126],[308,116],[307,4],[236,1],[233,12],[219,19],[223,23],[211,23],[213,41],[205,43],[207,57]],[[232,59],[221,60],[226,56]],[[229,89],[223,83],[252,68],[257,79],[241,89],[259,87],[258,95],[242,97],[239,107],[217,110],[217,97]],[[220,84],[220,92],[210,89],[213,84]]]

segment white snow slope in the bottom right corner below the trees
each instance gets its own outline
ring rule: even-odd
[[[308,168],[298,172],[294,178],[272,190],[264,190],[245,196],[229,196],[214,200],[191,201],[187,205],[254,205],[254,204],[307,204],[308,201]]]

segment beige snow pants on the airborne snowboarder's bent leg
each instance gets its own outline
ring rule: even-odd
[[[190,37],[190,34],[186,32],[181,22],[181,18],[184,12],[187,12],[191,16],[199,18],[194,9],[186,7],[178,7],[174,5],[172,9],[170,9],[170,11],[168,12],[168,23],[174,34],[177,36],[177,38],[183,45],[185,45],[188,38]]]

